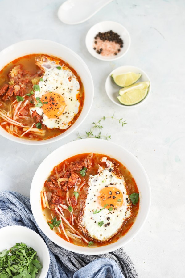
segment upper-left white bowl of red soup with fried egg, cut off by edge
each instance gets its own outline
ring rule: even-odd
[[[64,138],[93,101],[90,71],[64,45],[27,40],[0,52],[0,135],[39,145]]]

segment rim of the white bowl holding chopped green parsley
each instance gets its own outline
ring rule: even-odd
[[[37,234],[34,230],[31,230],[30,228],[28,228],[28,227],[26,227],[26,226],[21,226],[21,225],[10,225],[10,226],[6,226],[6,227],[2,227],[0,230],[1,230],[1,231],[4,231],[4,230],[5,230],[5,231],[6,231],[6,230],[12,230],[12,237],[13,237],[13,231],[14,231],[14,230],[23,230],[23,232],[25,232],[25,233],[27,233],[28,230],[29,230],[28,233],[32,234],[33,237],[38,238],[39,241],[42,242],[41,244],[42,244],[42,247],[45,249],[45,250],[44,250],[44,253],[45,253],[45,255],[46,255],[46,258],[44,258],[44,259],[45,259],[45,260],[44,260],[44,262],[45,262],[45,270],[44,270],[43,273],[42,273],[42,270],[43,270],[43,268],[42,268],[40,274],[42,274],[42,276],[45,277],[45,276],[47,275],[47,272],[48,272],[48,269],[49,269],[50,255],[49,255],[49,250],[48,250],[48,248],[47,248],[47,245],[46,245],[46,243],[44,242],[43,238],[42,238],[39,234]],[[16,243],[17,243],[17,242],[15,242],[15,244],[16,244]],[[26,242],[24,242],[24,243],[26,243]],[[27,243],[26,243],[26,244],[27,244]],[[13,246],[12,246],[12,247],[13,247]],[[29,247],[31,247],[31,246],[29,246]],[[35,251],[36,251],[36,250],[35,250]],[[1,252],[1,250],[0,250],[0,252]],[[36,275],[36,276],[37,276],[37,275]],[[40,276],[40,275],[39,275],[39,276]]]

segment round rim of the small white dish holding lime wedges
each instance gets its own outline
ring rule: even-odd
[[[124,104],[121,104],[121,103],[117,103],[115,100],[113,100],[113,99],[110,97],[110,95],[108,94],[107,89],[106,89],[106,87],[107,87],[107,82],[109,81],[109,78],[111,77],[111,75],[112,75],[116,70],[118,70],[118,69],[120,69],[120,68],[128,68],[128,67],[129,67],[129,68],[131,67],[131,68],[133,68],[133,69],[135,69],[135,70],[141,71],[142,74],[144,74],[144,75],[146,76],[146,78],[148,79],[148,80],[146,80],[146,81],[149,81],[149,82],[150,82],[149,90],[148,90],[148,93],[147,93],[146,97],[145,97],[142,101],[140,101],[140,102],[138,102],[138,103],[136,103],[136,104],[133,104],[133,105],[124,105]],[[137,82],[140,82],[140,81],[138,80]],[[137,82],[134,83],[134,84],[137,84]],[[116,83],[115,83],[115,84],[116,84]],[[117,85],[117,86],[118,86],[118,85]],[[119,91],[120,89],[121,89],[121,87],[118,86],[118,91]],[[131,65],[120,66],[120,67],[118,67],[118,68],[112,70],[112,71],[109,73],[109,75],[107,76],[106,81],[105,81],[105,91],[106,91],[107,96],[109,97],[109,99],[110,99],[113,103],[115,103],[116,105],[118,105],[118,106],[120,106],[120,107],[123,107],[123,108],[134,108],[134,107],[137,107],[137,106],[141,105],[142,103],[144,103],[144,102],[149,98],[149,96],[150,96],[150,94],[151,94],[151,89],[152,89],[152,85],[151,85],[151,81],[150,81],[150,78],[149,78],[148,74],[146,74],[146,72],[145,72],[144,70],[142,70],[142,69],[140,69],[140,68],[138,68],[138,67],[136,67],[136,66],[131,66]],[[118,95],[119,95],[119,92],[118,92]]]

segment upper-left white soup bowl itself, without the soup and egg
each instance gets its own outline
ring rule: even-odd
[[[94,86],[91,73],[82,58],[66,46],[50,40],[25,40],[5,48],[0,52],[0,70],[2,70],[11,61],[28,54],[48,54],[64,60],[72,66],[74,70],[76,70],[77,74],[81,78],[85,91],[84,106],[80,116],[71,127],[56,137],[41,141],[27,140],[9,134],[0,126],[0,135],[7,139],[27,145],[43,145],[66,137],[80,126],[91,109],[94,96]]]

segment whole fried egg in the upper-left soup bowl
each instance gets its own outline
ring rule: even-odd
[[[35,59],[35,64],[44,71],[35,88],[34,104],[30,109],[42,116],[42,122],[47,128],[67,129],[74,116],[79,112],[80,84],[77,77],[59,60],[48,56]]]

